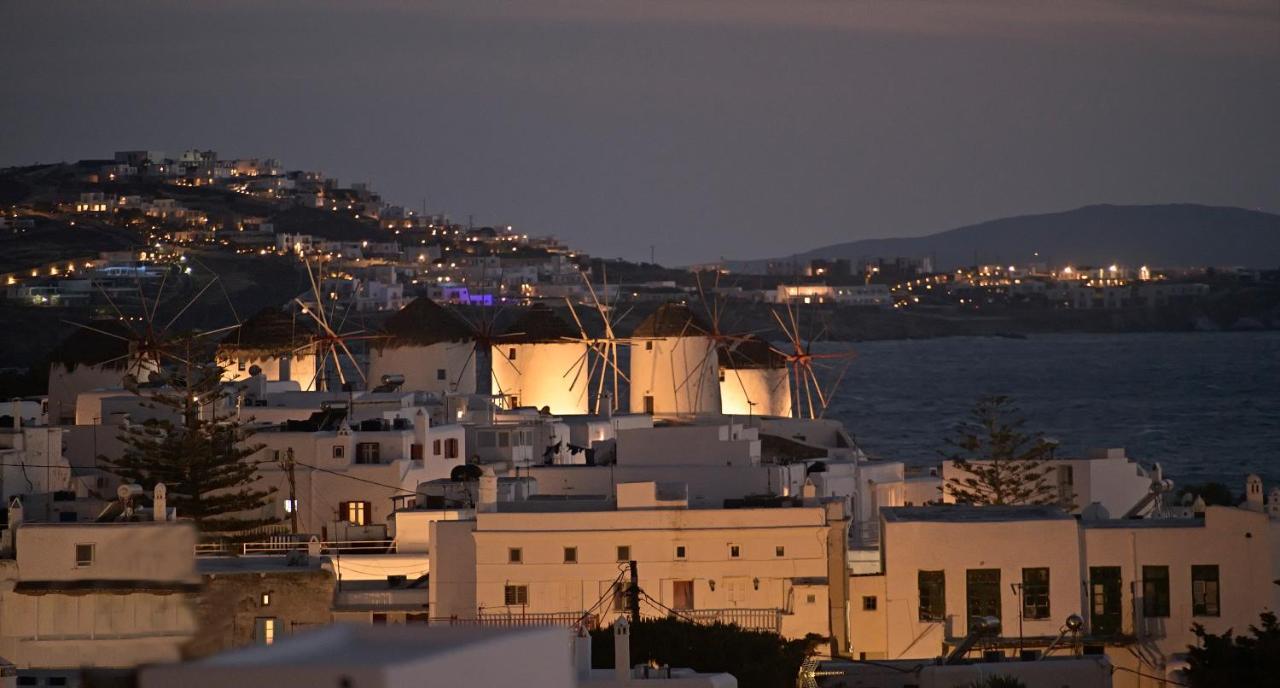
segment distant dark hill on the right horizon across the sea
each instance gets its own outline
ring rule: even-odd
[[[1039,253],[1039,257],[1034,257]],[[1280,266],[1280,215],[1197,205],[1085,206],[1023,215],[910,239],[865,239],[796,254],[823,258],[932,256],[937,270],[974,263]],[[782,257],[776,260],[790,260]],[[763,272],[768,261],[730,263]]]

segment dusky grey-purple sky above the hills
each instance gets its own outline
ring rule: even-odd
[[[276,157],[659,262],[1280,211],[1280,0],[0,0],[0,166]]]

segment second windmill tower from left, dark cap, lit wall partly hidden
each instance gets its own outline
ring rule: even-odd
[[[292,380],[315,391],[317,354],[311,318],[264,308],[218,345],[216,362],[225,381],[247,380],[257,367],[273,382]]]

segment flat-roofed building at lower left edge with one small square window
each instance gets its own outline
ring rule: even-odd
[[[46,685],[77,685],[83,669],[177,661],[196,632],[195,546],[191,523],[23,523],[12,505],[0,656]]]

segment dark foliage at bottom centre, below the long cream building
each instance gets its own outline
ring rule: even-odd
[[[788,641],[777,633],[736,625],[692,624],[678,619],[643,620],[631,625],[631,664],[655,661],[698,671],[724,671],[740,688],[792,688],[800,664],[823,638]],[[596,669],[613,666],[613,629],[591,632]]]

